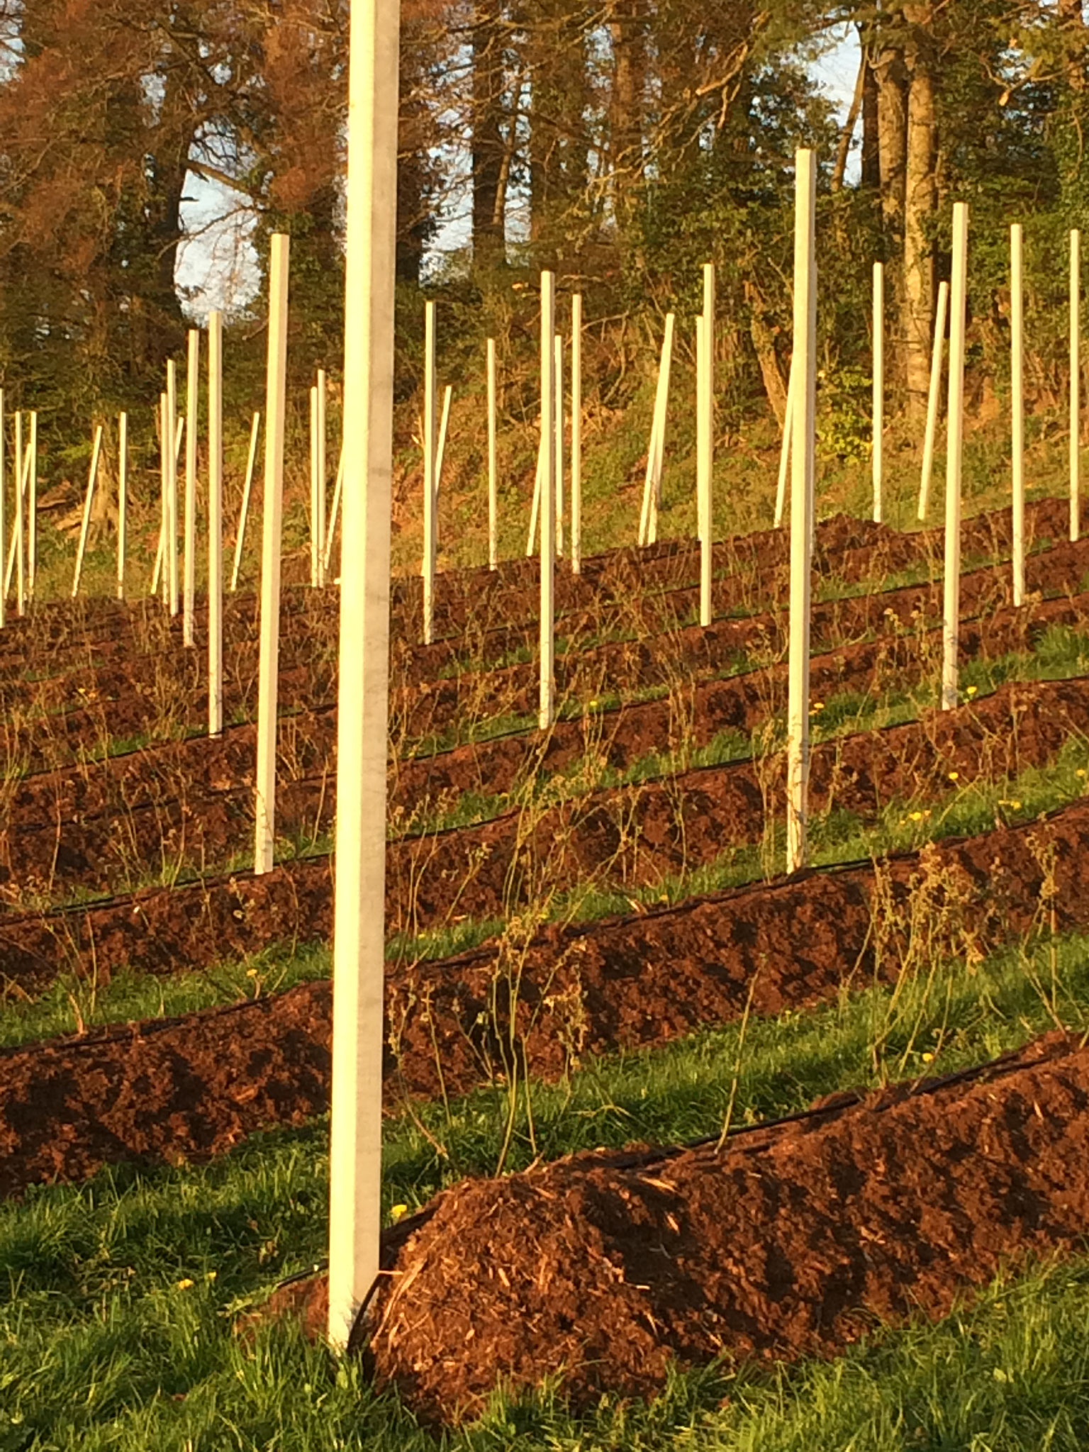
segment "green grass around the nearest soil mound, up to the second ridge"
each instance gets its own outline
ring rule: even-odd
[[[738,1122],[987,1059],[1051,1027],[1056,1012],[1085,1025],[1083,935],[931,967],[899,993],[870,986],[816,1012],[752,1021]],[[534,1085],[513,1163],[714,1133],[739,1034],[729,1025]],[[392,1119],[386,1214],[459,1175],[489,1173],[505,1118],[499,1088]],[[122,1166],[0,1207],[1,1452],[433,1446],[392,1395],[292,1327],[266,1329],[253,1347],[231,1333],[237,1310],[322,1255],[325,1138],[318,1121],[256,1135],[206,1166]],[[1038,1268],[999,1281],[971,1310],[880,1334],[831,1365],[678,1372],[650,1408],[603,1398],[576,1419],[555,1390],[521,1403],[497,1395],[447,1445],[1073,1449],[1089,1424],[1086,1286],[1089,1259]]]

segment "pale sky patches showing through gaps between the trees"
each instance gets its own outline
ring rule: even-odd
[[[829,48],[813,64],[820,89],[835,103],[839,119],[847,116],[858,76],[858,35],[845,25],[831,32]],[[848,180],[858,167],[858,136],[848,163]],[[253,213],[245,199],[192,171],[182,205],[186,238],[179,248],[177,285],[187,311],[203,322],[211,308],[231,312],[245,306],[258,283],[257,257],[250,242]],[[436,250],[465,245],[465,218],[440,228]]]

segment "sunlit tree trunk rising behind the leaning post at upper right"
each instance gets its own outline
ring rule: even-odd
[[[908,417],[918,420],[926,412],[931,375],[934,257],[929,228],[938,200],[935,177],[938,147],[934,67],[926,32],[931,16],[922,6],[905,6],[905,16],[915,22],[915,33],[905,52],[910,84],[908,91],[900,334],[905,350]]]

